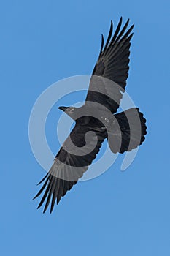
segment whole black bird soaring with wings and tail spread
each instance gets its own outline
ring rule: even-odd
[[[93,69],[85,104],[81,108],[59,107],[75,121],[69,137],[58,151],[53,165],[39,190],[45,202],[45,212],[50,203],[50,212],[55,202],[58,204],[88,166],[96,158],[101,143],[107,138],[113,153],[131,151],[141,145],[147,134],[146,119],[139,108],[131,108],[117,113],[128,78],[131,33],[134,25],[128,28],[129,19],[122,27],[122,18],[113,33],[113,23],[109,29],[107,42],[101,35],[101,50]]]

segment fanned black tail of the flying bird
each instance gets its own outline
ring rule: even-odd
[[[146,119],[139,108],[125,110],[115,114],[115,121],[107,133],[109,148],[113,153],[131,151],[144,142]]]

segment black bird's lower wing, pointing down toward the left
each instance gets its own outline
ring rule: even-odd
[[[87,139],[85,140],[85,138]],[[50,212],[53,211],[55,201],[59,203],[61,197],[77,183],[85,170],[88,170],[88,166],[96,158],[105,138],[104,133],[100,131],[94,132],[93,129],[85,125],[75,125],[56,155],[49,173],[39,182],[41,184],[45,181],[34,197],[36,198],[44,192],[38,208],[46,200],[43,211],[45,212],[51,200]]]

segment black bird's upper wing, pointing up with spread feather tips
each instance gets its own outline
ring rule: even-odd
[[[93,69],[92,78],[86,101],[97,102],[116,113],[122,99],[126,80],[128,78],[128,63],[130,55],[131,33],[134,25],[127,30],[128,21],[122,26],[122,18],[113,34],[113,23],[109,29],[107,42],[101,36],[101,50],[98,61]],[[113,34],[113,35],[112,35]]]

